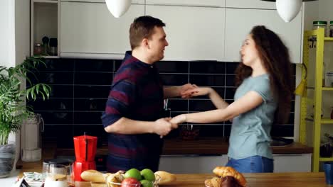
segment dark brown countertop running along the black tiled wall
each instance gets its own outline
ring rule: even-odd
[[[312,153],[313,148],[292,142],[290,145],[272,147],[273,154],[302,154]],[[200,137],[199,140],[164,140],[162,154],[227,154],[228,142],[223,137]],[[97,154],[107,154],[107,146],[97,148]],[[74,155],[74,149],[58,148],[56,155]]]

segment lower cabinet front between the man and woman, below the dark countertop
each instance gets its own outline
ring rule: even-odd
[[[211,174],[216,166],[224,166],[228,156],[197,155],[162,155],[159,159],[159,170],[173,174]]]

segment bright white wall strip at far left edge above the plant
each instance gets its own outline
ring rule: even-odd
[[[15,65],[15,1],[0,1],[0,65]]]

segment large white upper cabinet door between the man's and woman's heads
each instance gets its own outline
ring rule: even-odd
[[[166,23],[164,60],[222,60],[225,8],[146,6],[146,14]]]

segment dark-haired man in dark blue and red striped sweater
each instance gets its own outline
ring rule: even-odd
[[[177,125],[162,118],[164,98],[181,96],[191,84],[163,88],[154,63],[168,46],[165,24],[151,16],[134,19],[128,51],[113,79],[102,123],[109,133],[107,170],[131,168],[157,171],[162,139]]]

